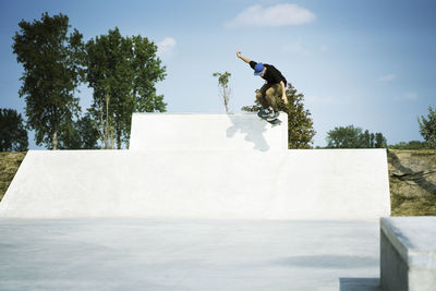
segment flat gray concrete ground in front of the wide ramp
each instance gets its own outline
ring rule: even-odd
[[[0,290],[378,290],[378,221],[0,219]]]

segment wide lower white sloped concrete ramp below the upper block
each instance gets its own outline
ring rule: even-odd
[[[386,151],[31,150],[0,217],[378,219]]]

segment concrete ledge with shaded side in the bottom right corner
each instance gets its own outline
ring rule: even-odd
[[[436,217],[380,220],[384,290],[436,290]]]

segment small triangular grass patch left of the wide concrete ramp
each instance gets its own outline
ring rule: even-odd
[[[25,156],[26,153],[0,153],[0,201]]]

